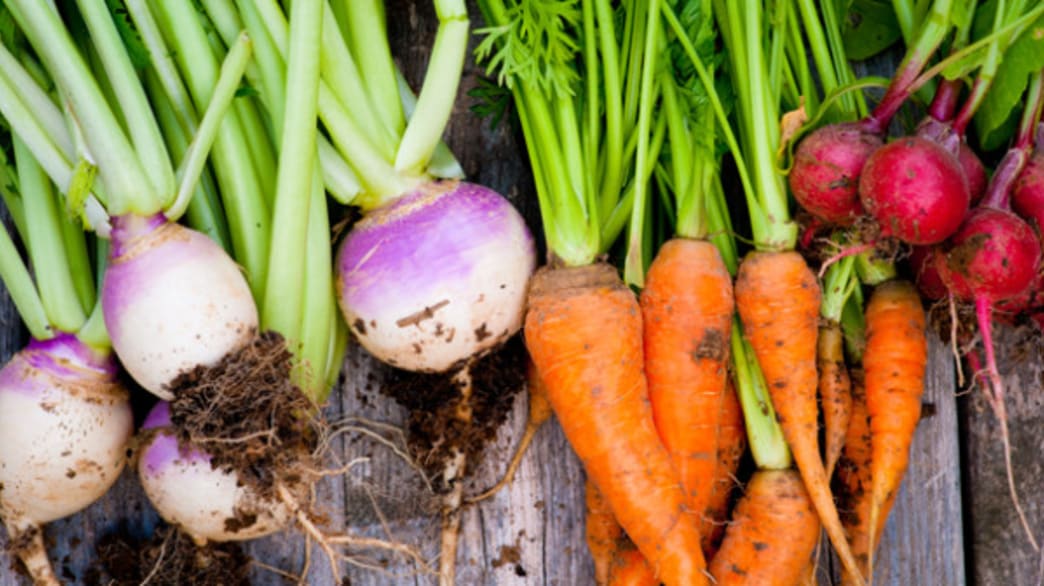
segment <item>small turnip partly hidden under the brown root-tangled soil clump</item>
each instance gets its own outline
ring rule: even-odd
[[[263,497],[234,472],[214,468],[209,454],[180,445],[167,402],[149,412],[142,438],[138,477],[145,494],[161,517],[200,545],[262,537],[292,518],[285,502]]]

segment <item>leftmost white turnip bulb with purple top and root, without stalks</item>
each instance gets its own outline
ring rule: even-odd
[[[57,584],[40,525],[119,477],[134,430],[116,362],[72,334],[31,341],[0,370],[0,518],[38,584]]]

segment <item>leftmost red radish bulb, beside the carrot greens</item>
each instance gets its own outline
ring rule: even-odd
[[[801,141],[788,181],[794,198],[815,217],[850,226],[862,215],[859,174],[884,144],[858,124],[823,126]]]

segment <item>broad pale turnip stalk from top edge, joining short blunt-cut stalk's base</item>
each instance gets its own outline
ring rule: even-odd
[[[112,85],[118,100],[119,110],[126,122],[139,156],[145,179],[149,181],[152,190],[165,200],[174,193],[174,173],[170,168],[170,157],[167,155],[163,136],[156,122],[156,116],[145,97],[145,89],[130,64],[123,40],[105,3],[98,0],[77,0],[80,14],[91,32],[91,40],[97,48],[98,56],[105,71],[105,76]]]

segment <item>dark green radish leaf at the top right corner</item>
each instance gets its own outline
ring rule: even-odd
[[[993,86],[975,114],[975,130],[983,150],[1000,148],[1011,138],[1029,75],[1041,69],[1044,69],[1044,17],[1037,19],[1004,51]]]

